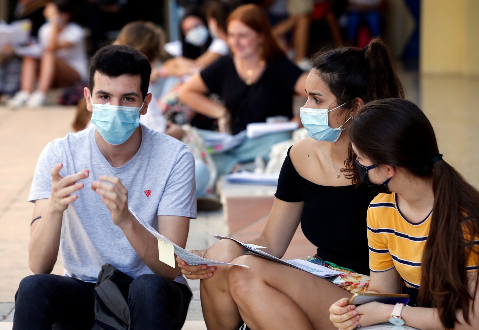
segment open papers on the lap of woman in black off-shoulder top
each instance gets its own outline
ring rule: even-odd
[[[295,267],[297,269],[301,269],[305,272],[308,272],[310,274],[313,274],[313,275],[316,275],[316,276],[319,276],[319,277],[330,277],[330,276],[342,274],[342,272],[332,270],[330,268],[321,266],[319,264],[308,263],[307,261],[304,261],[304,260],[301,260],[301,259],[282,260],[282,259],[276,258],[275,256],[273,256],[269,253],[266,253],[262,250],[259,250],[259,249],[265,248],[264,246],[258,246],[258,245],[254,245],[254,244],[245,244],[243,242],[239,242],[238,240],[235,240],[234,238],[221,236],[221,235],[213,235],[213,236],[216,237],[219,240],[227,238],[227,239],[238,242],[239,244],[242,245],[243,253],[245,253],[245,254],[253,254],[253,255],[257,255],[257,256],[260,256],[260,257],[263,257],[263,258],[266,258],[266,259],[269,259],[269,260],[273,260],[273,261],[278,262],[280,264],[286,264],[288,266]]]

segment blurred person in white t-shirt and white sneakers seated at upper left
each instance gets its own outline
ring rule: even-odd
[[[38,31],[38,54],[23,57],[20,91],[8,100],[8,106],[42,106],[49,88],[68,87],[87,80],[84,32],[73,22],[80,2],[52,0],[45,6],[43,15],[47,22]]]

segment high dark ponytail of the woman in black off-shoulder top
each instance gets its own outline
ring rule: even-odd
[[[404,90],[388,46],[380,38],[374,38],[363,51],[370,68],[366,80],[369,99],[403,99]]]

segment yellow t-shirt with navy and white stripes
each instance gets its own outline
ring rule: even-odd
[[[421,222],[412,223],[401,214],[395,193],[378,194],[367,210],[371,272],[384,272],[396,267],[407,286],[419,288],[422,251],[429,234],[431,215],[432,211]],[[478,270],[477,259],[477,255],[472,253],[467,264],[468,271]]]

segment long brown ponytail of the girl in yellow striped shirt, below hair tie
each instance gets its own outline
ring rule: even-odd
[[[446,329],[454,328],[456,310],[462,308],[469,324],[474,292],[466,266],[471,255],[479,264],[479,192],[444,160],[433,164],[434,206],[421,263],[421,306],[437,308]]]

